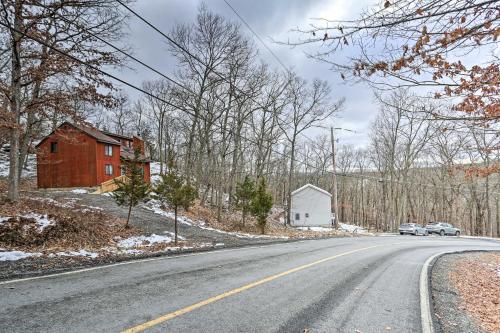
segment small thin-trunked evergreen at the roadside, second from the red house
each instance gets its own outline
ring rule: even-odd
[[[179,207],[189,209],[196,199],[196,189],[177,174],[172,163],[169,163],[167,173],[161,174],[159,182],[155,185],[158,199],[174,208],[175,245],[177,245],[177,212]]]

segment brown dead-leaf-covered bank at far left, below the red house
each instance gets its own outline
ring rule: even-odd
[[[54,225],[42,231],[27,213],[47,214]],[[124,221],[76,202],[56,202],[22,197],[17,203],[0,196],[0,216],[12,217],[0,224],[0,247],[24,251],[67,251],[99,249],[113,245],[114,238],[139,234],[138,229],[124,229]]]

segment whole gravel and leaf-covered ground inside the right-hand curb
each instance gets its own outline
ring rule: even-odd
[[[500,332],[500,252],[439,257],[431,288],[436,332]]]

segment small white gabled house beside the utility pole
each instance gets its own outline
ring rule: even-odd
[[[291,219],[293,227],[329,227],[332,224],[332,195],[311,184],[292,192]]]

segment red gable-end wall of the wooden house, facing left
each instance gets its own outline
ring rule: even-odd
[[[52,142],[57,152],[51,153]],[[39,188],[96,186],[96,140],[70,126],[61,126],[38,147]]]

